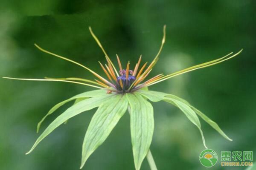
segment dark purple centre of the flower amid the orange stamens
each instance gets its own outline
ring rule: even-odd
[[[121,76],[117,77],[116,88],[119,91],[125,92],[127,91],[131,84],[136,80],[136,77],[133,76],[133,71],[129,70],[128,75],[126,75],[126,70],[120,70],[119,74]]]

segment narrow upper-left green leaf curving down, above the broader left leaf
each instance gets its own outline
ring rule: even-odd
[[[62,102],[59,102],[57,105],[53,106],[49,112],[41,119],[41,121],[38,123],[37,125],[37,130],[36,132],[39,132],[40,126],[41,124],[44,122],[44,119],[49,116],[50,114],[52,114],[54,111],[56,111],[58,108],[60,108],[62,105],[66,104],[67,102],[70,102],[72,100],[75,99],[80,99],[80,98],[89,98],[89,97],[94,97],[94,96],[101,96],[101,95],[105,95],[106,94],[106,90],[94,90],[94,91],[87,91],[81,94],[78,94],[76,96],[71,97],[70,99],[64,100]],[[75,102],[76,103],[76,102]]]

